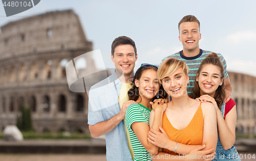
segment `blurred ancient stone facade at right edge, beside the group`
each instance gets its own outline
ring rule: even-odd
[[[237,103],[237,133],[256,134],[256,77],[228,72]]]

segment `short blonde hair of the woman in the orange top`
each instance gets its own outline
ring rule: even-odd
[[[157,70],[157,77],[160,83],[162,84],[162,79],[172,75],[178,68],[182,67],[185,74],[189,72],[189,68],[185,62],[175,59],[168,58],[165,59],[159,66]]]

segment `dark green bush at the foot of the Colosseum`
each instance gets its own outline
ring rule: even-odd
[[[17,127],[20,131],[33,131],[30,109],[22,105],[22,114],[17,117]]]

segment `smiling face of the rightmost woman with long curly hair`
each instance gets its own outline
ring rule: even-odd
[[[214,97],[216,90],[223,83],[220,68],[212,64],[204,65],[201,72],[197,74],[196,81],[200,87],[200,95],[208,94]]]

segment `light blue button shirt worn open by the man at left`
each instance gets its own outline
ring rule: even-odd
[[[94,125],[109,120],[120,112],[118,96],[122,82],[116,72],[103,81],[92,86],[89,92],[88,124]],[[126,136],[126,128],[122,120],[116,128],[105,134],[106,160],[132,161]]]

